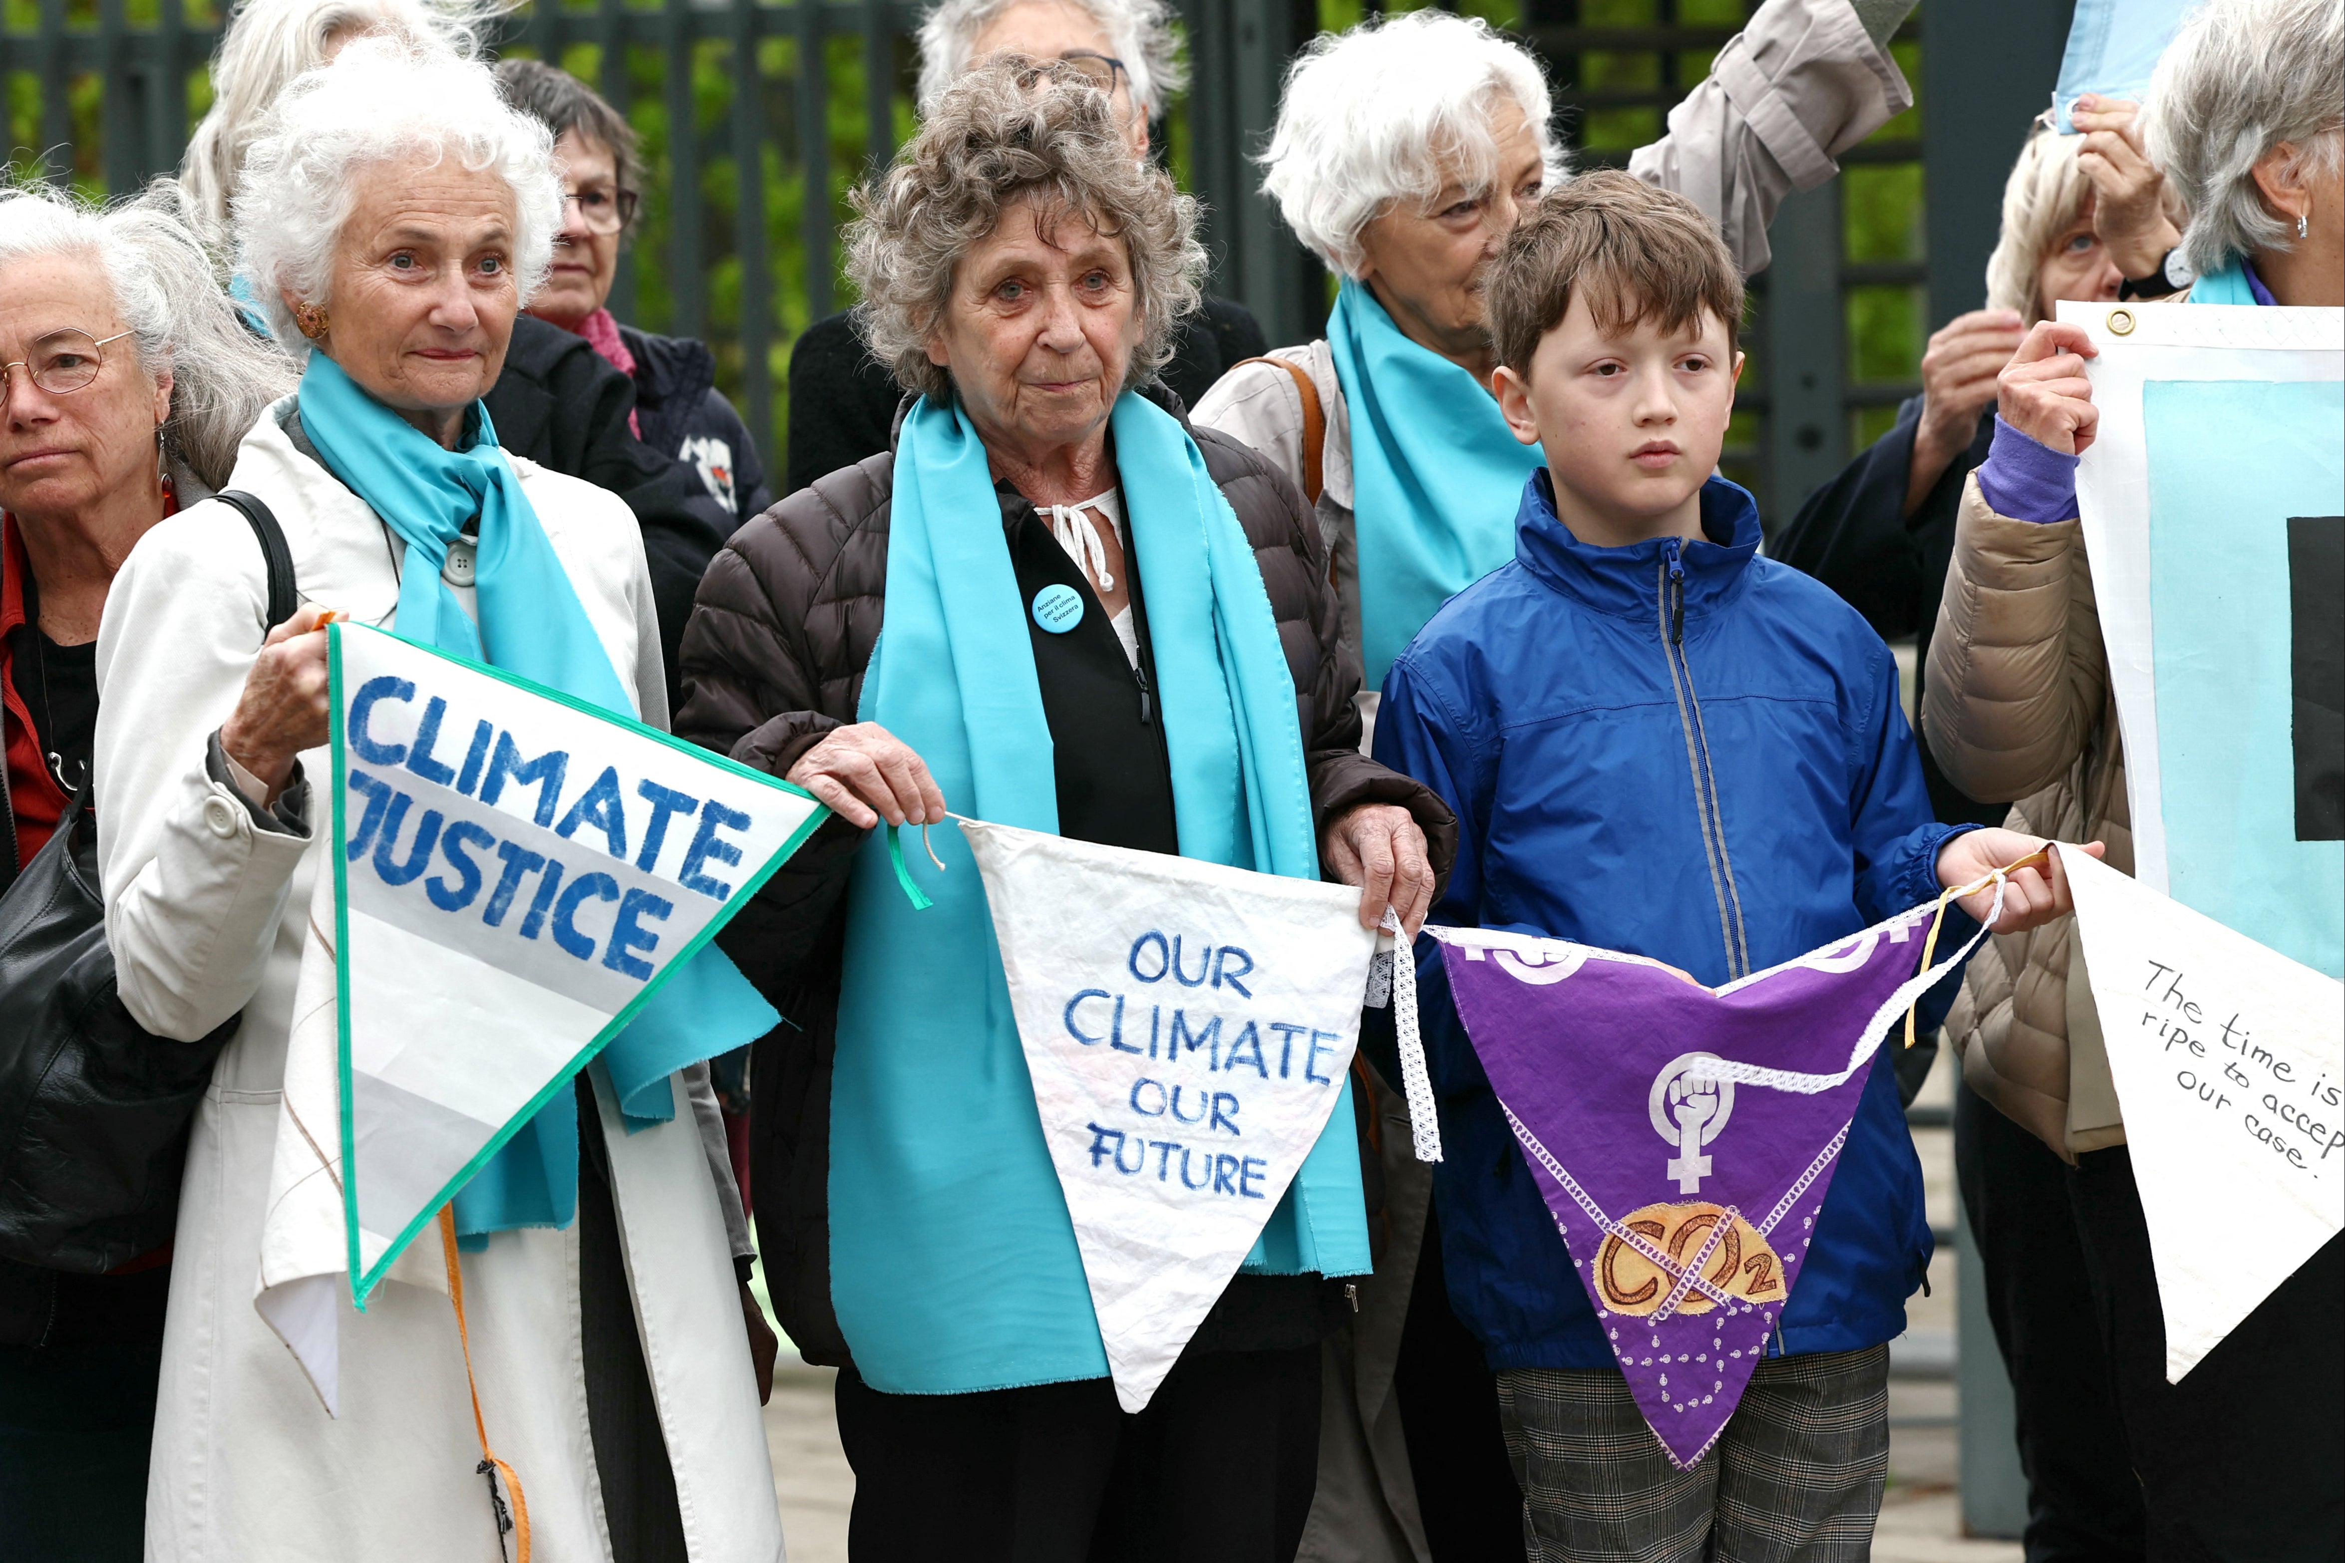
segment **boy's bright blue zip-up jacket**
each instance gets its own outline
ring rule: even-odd
[[[1702,532],[1590,548],[1538,471],[1515,562],[1452,598],[1393,663],[1377,759],[1459,818],[1435,923],[1625,949],[1721,984],[1939,893],[1937,853],[1960,827],[1930,818],[1890,649],[1831,591],[1756,558],[1745,490],[1712,478]],[[1958,916],[1942,949],[1977,928]],[[1430,942],[1419,961],[1449,1301],[1494,1369],[1611,1369]],[[1949,975],[1925,1026],[1953,991]],[[1928,1263],[1921,1162],[1897,1080],[1876,1066],[1778,1347],[1897,1336]]]

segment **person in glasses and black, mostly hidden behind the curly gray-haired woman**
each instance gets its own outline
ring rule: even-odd
[[[1189,80],[1165,0],[938,0],[919,23],[919,110],[929,112],[976,61],[997,54],[1055,59],[1107,94],[1133,157]],[[903,387],[865,347],[854,309],[816,321],[790,349],[790,473],[800,490],[886,450]],[[1252,312],[1203,295],[1172,326],[1172,356],[1156,370],[1196,401],[1222,373],[1269,344]]]

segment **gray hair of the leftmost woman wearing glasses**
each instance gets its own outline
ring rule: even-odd
[[[164,452],[204,487],[223,487],[263,408],[293,389],[293,363],[244,328],[159,178],[145,194],[91,206],[49,185],[0,192],[0,267],[70,255],[103,269],[148,380],[171,375]]]

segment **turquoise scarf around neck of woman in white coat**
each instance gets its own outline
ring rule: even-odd
[[[361,391],[333,359],[310,354],[300,380],[300,426],[326,469],[408,548],[392,621],[401,640],[518,673],[617,717],[635,717],[603,637],[586,619],[518,473],[497,448],[485,405],[474,403],[467,412],[467,448],[443,450]],[[474,516],[481,518],[474,560],[478,626],[441,579],[448,546]],[[704,947],[600,1052],[628,1129],[675,1118],[671,1073],[755,1040],[776,1019],[732,961],[715,944]],[[577,1097],[556,1092],[457,1190],[457,1235],[478,1247],[488,1233],[570,1226],[577,1176]]]

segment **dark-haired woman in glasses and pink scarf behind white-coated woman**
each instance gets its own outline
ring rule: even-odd
[[[553,274],[530,300],[530,314],[586,337],[628,375],[635,382],[635,438],[699,471],[734,525],[748,520],[772,494],[757,441],[715,387],[715,354],[692,337],[654,337],[621,326],[607,309],[619,246],[635,227],[643,187],[633,127],[586,82],[544,61],[502,61],[497,87],[507,103],[553,131],[553,157],[563,166]]]

